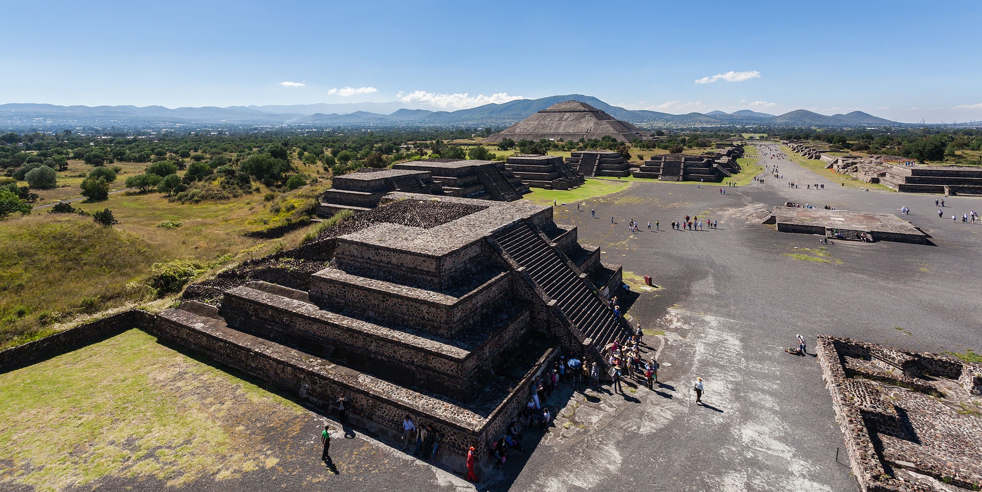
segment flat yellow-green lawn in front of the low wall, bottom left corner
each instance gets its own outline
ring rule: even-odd
[[[289,435],[303,413],[131,330],[0,374],[0,483],[53,491],[102,477],[180,486],[242,476],[282,458],[259,433]]]

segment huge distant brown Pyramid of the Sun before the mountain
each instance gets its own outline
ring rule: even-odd
[[[569,141],[580,138],[600,138],[605,135],[620,141],[631,141],[640,138],[640,132],[637,127],[615,120],[613,116],[589,104],[563,101],[521,120],[503,132],[485,138],[484,141],[501,141],[505,138],[516,141],[540,138]]]

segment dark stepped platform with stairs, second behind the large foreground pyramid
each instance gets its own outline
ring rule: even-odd
[[[423,159],[394,164],[392,168],[430,173],[433,182],[449,196],[515,201],[529,191],[503,162]]]

